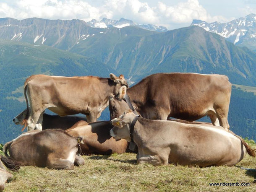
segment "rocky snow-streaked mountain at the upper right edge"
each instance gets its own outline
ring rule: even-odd
[[[204,28],[206,31],[219,34],[240,47],[246,46],[256,51],[256,14],[234,19],[227,23],[207,23],[193,20],[191,25]]]

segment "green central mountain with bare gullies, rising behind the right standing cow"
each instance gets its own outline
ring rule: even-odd
[[[256,85],[256,53],[198,26],[164,33],[136,26],[110,28],[80,39],[70,52],[99,59],[134,81],[159,72],[220,73],[237,84]]]

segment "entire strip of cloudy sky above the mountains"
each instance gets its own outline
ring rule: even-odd
[[[256,13],[256,0],[0,0],[0,18],[130,19],[176,29],[193,19],[221,23]]]

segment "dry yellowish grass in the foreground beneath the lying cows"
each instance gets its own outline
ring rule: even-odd
[[[254,142],[250,142],[256,148]],[[246,157],[236,166],[189,167],[137,164],[136,154],[83,156],[85,166],[74,170],[50,170],[34,166],[12,172],[5,184],[13,191],[256,191],[256,173],[240,169],[256,169],[256,158]],[[209,186],[210,182],[249,183],[250,186]]]

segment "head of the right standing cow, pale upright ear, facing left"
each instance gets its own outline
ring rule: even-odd
[[[126,86],[122,86],[116,95],[109,96],[110,119],[119,117],[126,109],[130,109],[123,100],[126,94]]]

